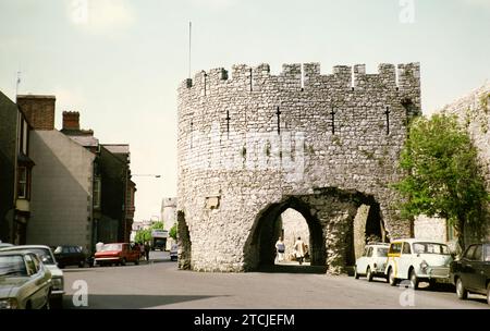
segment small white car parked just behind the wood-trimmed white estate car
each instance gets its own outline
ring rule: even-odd
[[[360,275],[366,275],[369,282],[375,277],[385,279],[384,271],[387,270],[389,247],[390,244],[384,243],[366,245],[363,256],[356,260],[356,265],[354,266],[354,278],[359,279]]]

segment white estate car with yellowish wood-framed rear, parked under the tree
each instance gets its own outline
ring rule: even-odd
[[[417,290],[419,282],[449,282],[453,258],[448,245],[416,238],[396,240],[390,244],[385,274],[390,285],[409,280]]]

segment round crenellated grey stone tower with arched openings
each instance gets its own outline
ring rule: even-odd
[[[397,69],[397,70],[396,70]],[[247,271],[273,263],[280,214],[301,212],[311,265],[353,263],[353,220],[411,235],[390,184],[411,118],[420,114],[419,64],[234,65],[179,87],[180,268]]]

